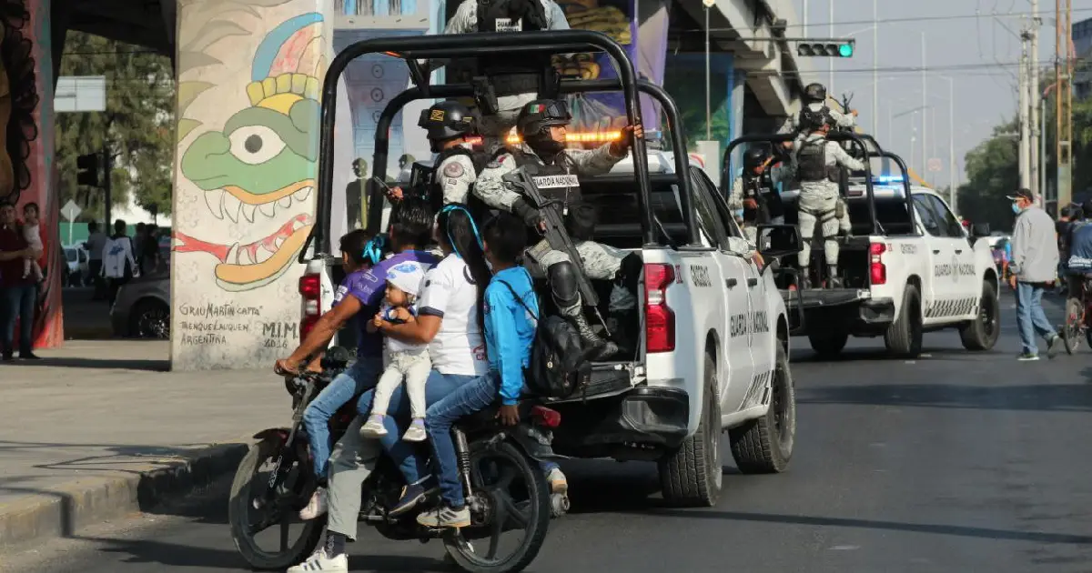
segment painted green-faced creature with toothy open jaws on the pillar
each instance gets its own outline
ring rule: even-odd
[[[202,44],[211,41],[194,47]],[[325,57],[322,14],[297,15],[274,27],[253,55],[250,82],[240,85],[250,106],[222,129],[206,131],[179,150],[181,177],[204,194],[203,220],[223,226],[216,235],[238,239],[213,242],[176,231],[175,251],[214,256],[216,285],[224,290],[251,290],[275,282],[311,230]],[[203,82],[180,83],[180,115],[209,87]],[[183,116],[179,139],[199,124]]]

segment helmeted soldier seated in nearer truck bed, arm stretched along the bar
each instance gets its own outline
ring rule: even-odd
[[[527,226],[541,229],[542,215],[517,191],[509,188],[501,179],[517,168],[533,164],[538,168],[538,176],[558,176],[559,184],[541,188],[544,195],[561,203],[562,214],[567,220],[580,219],[575,227],[586,227],[587,211],[581,205],[579,183],[573,184],[573,177],[581,175],[606,174],[615,164],[624,159],[630,147],[630,138],[644,136],[641,126],[628,126],[622,129],[621,139],[606,143],[595,150],[566,148],[566,126],[572,117],[568,106],[562,100],[536,99],[520,110],[515,121],[522,143],[499,150],[494,159],[478,177],[474,193],[487,205],[517,214]],[[594,223],[592,224],[594,225]],[[612,314],[632,311],[637,308],[636,295],[625,288],[629,284],[622,267],[626,253],[600,244],[590,239],[590,234],[573,237],[577,250],[583,259],[583,272],[589,278],[615,280],[615,291],[610,296]],[[584,240],[581,240],[584,239]],[[597,348],[594,357],[603,358],[618,350],[613,342],[603,341],[592,330],[583,315],[580,290],[577,287],[577,273],[581,272],[570,261],[567,253],[557,250],[545,239],[529,249],[529,256],[542,268],[549,280],[550,290],[561,314],[580,332],[580,337],[587,348]]]

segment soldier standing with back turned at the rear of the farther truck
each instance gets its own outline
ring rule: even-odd
[[[847,167],[854,171],[865,169],[865,164],[850,156],[841,145],[827,140],[832,118],[823,110],[800,111],[800,127],[808,135],[793,145],[796,175],[800,180],[800,200],[798,219],[803,249],[798,255],[802,273],[802,288],[807,288],[807,268],[811,262],[811,238],[816,227],[820,227],[823,238],[823,252],[827,255],[827,266],[830,273],[829,285],[841,287],[838,275],[838,240],[839,219],[843,218],[846,208],[839,194],[839,168]]]

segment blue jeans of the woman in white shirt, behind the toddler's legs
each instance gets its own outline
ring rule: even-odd
[[[437,404],[474,380],[477,380],[477,377],[441,374],[432,370],[425,382],[425,404],[428,406]],[[356,408],[361,416],[368,415],[373,394],[375,391],[369,390],[357,401]],[[429,470],[426,461],[416,455],[414,444],[402,440],[402,428],[399,420],[406,421],[410,417],[410,399],[404,386],[400,385],[394,389],[394,393],[391,394],[391,403],[387,407],[387,414],[388,416],[383,416],[383,427],[387,428],[387,433],[379,441],[383,444],[387,455],[391,456],[394,464],[399,466],[406,484],[417,484],[429,475]]]

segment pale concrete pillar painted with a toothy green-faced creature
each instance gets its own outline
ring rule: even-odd
[[[272,366],[299,341],[333,0],[179,0],[171,367]]]

